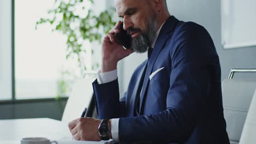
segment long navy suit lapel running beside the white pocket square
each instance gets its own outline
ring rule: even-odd
[[[164,25],[161,28],[161,31],[158,35],[158,38],[156,40],[152,55],[150,56],[149,62],[148,62],[148,68],[146,71],[146,75],[143,82],[143,87],[140,95],[140,101],[139,101],[139,113],[142,114],[143,110],[142,107],[144,104],[144,98],[146,94],[146,91],[148,89],[148,82],[149,82],[149,75],[152,73],[153,66],[155,64],[156,58],[158,58],[158,55],[162,48],[164,47],[166,40],[170,38],[171,35],[168,35],[173,29],[178,20],[174,16],[170,16]]]

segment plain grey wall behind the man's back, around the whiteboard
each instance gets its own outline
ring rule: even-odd
[[[222,80],[228,78],[231,68],[256,68],[256,46],[228,50],[223,48],[220,0],[167,0],[167,2],[172,15],[179,20],[197,22],[211,34],[220,59]],[[237,77],[255,79],[256,74],[235,74],[234,78]]]

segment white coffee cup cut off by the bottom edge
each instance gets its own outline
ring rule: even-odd
[[[56,141],[50,141],[45,137],[25,137],[20,142],[21,144],[58,144]]]

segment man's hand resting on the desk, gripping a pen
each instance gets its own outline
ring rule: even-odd
[[[101,137],[98,135],[98,125],[100,123],[100,119],[89,117],[78,118],[69,122],[68,128],[74,140],[101,141]]]

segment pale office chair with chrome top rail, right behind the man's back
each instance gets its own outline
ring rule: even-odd
[[[231,144],[238,143],[251,104],[256,79],[232,79],[234,73],[256,72],[256,69],[232,69],[229,79],[222,82],[226,130]]]

